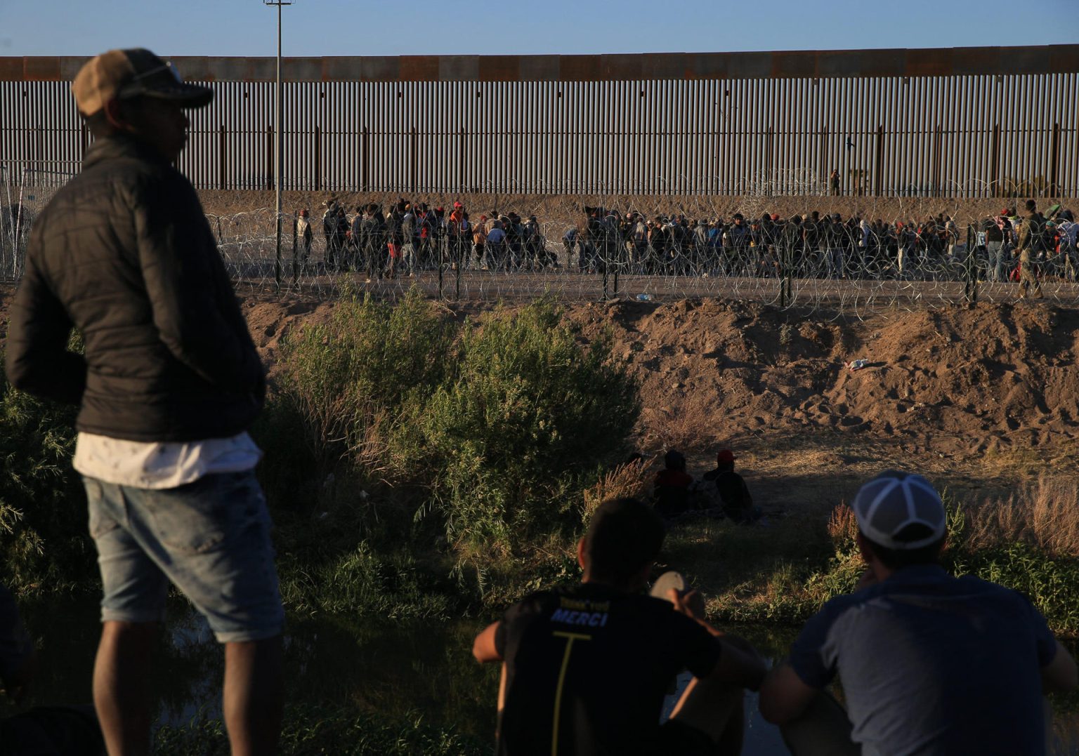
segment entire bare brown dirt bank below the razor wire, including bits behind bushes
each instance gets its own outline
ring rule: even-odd
[[[0,291],[0,339],[11,293]],[[333,307],[254,295],[243,306],[271,376],[289,330]],[[706,299],[568,314],[584,338],[607,334],[640,380],[642,450],[677,446],[699,473],[733,448],[766,507],[834,503],[887,466],[988,495],[1079,461],[1077,310],[980,304],[858,319]],[[848,370],[856,358],[868,367]]]

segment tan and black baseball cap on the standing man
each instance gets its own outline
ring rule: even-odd
[[[84,115],[93,115],[113,98],[158,97],[183,108],[201,108],[214,98],[213,90],[186,84],[172,63],[142,47],[110,50],[92,58],[74,78],[71,92]]]

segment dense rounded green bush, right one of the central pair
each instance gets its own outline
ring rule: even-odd
[[[563,315],[543,299],[467,325],[450,381],[394,437],[464,553],[579,527],[585,487],[626,450],[637,384],[606,340],[583,344]]]

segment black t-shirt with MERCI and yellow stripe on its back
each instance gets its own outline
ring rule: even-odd
[[[670,603],[582,583],[535,593],[495,634],[506,660],[500,756],[653,754],[671,679],[707,677],[720,645]]]

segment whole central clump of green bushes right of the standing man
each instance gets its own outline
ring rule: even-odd
[[[327,324],[287,342],[256,437],[287,532],[283,561],[304,563],[297,579],[313,589],[295,595],[343,608],[341,591],[312,596],[345,575],[386,575],[390,590],[346,593],[380,613],[429,615],[437,607],[409,611],[378,596],[423,603],[438,581],[416,576],[439,569],[457,576],[459,591],[482,592],[522,560],[538,566],[543,551],[562,564],[562,546],[533,547],[572,540],[586,489],[625,454],[640,415],[609,342],[586,343],[563,315],[543,299],[459,322],[415,291],[396,305],[346,294]],[[406,542],[445,563],[405,564]]]

